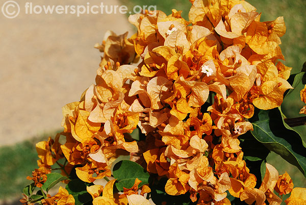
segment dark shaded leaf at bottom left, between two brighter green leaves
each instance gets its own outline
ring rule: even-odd
[[[93,184],[89,184],[91,186]],[[91,195],[86,190],[86,183],[80,179],[70,181],[66,190],[71,194],[75,200],[75,205],[82,205],[89,201],[92,201]]]

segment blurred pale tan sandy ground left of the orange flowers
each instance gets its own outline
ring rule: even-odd
[[[0,5],[5,2],[0,0]],[[0,146],[61,129],[61,108],[78,101],[94,83],[100,61],[94,44],[107,30],[132,35],[124,14],[29,15],[27,1],[16,2],[20,5],[16,18],[0,14]],[[87,2],[43,0],[33,7]],[[115,0],[91,0],[90,5],[101,2],[119,5]]]

